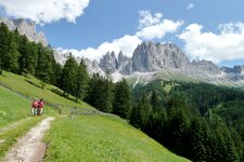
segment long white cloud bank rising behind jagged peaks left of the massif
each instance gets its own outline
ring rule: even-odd
[[[63,53],[72,52],[73,55],[89,58],[91,60],[97,59],[98,62],[100,58],[107,52],[107,51],[114,51],[116,54],[119,53],[119,51],[123,51],[124,54],[131,57],[134,49],[138,46],[138,44],[141,43],[141,40],[137,36],[128,36],[125,35],[124,37],[119,39],[115,39],[112,42],[104,42],[101,45],[99,45],[97,49],[88,48],[84,50],[62,50]]]

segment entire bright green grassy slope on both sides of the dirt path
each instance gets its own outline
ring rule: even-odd
[[[0,76],[0,81],[15,91],[31,97],[42,97],[50,103],[54,100],[56,104],[88,106],[85,103],[76,104],[50,91],[56,89],[55,86],[47,85],[44,90],[37,87],[34,84],[38,85],[39,81],[31,77],[25,78],[4,71],[4,77]],[[30,102],[26,98],[2,86],[0,98],[0,117],[4,116],[0,118],[2,125],[29,116]],[[56,114],[53,111],[48,113]],[[35,123],[38,122],[36,118],[34,119]],[[3,147],[4,151],[10,148],[15,139],[29,129],[30,123],[34,124],[26,121],[16,127],[16,131],[12,130],[16,134],[11,133],[11,130],[7,132],[7,135],[11,135],[10,140],[5,135],[1,135],[0,138],[7,140],[0,148]],[[115,117],[56,118],[46,140],[49,143],[46,161],[187,161]]]

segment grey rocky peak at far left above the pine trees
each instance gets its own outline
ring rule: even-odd
[[[42,45],[48,46],[48,41],[43,32],[36,31],[36,23],[23,18],[9,19],[7,17],[0,17],[0,23],[4,23],[10,30],[17,29],[21,35],[25,35],[28,40],[40,42]]]

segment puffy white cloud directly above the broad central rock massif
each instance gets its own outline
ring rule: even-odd
[[[162,19],[162,13],[152,15],[150,11],[140,11],[139,14],[141,18],[136,35],[144,40],[162,39],[168,32],[176,32],[183,24],[182,21]]]

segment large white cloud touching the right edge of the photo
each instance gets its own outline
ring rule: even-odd
[[[230,23],[219,27],[219,35],[203,32],[203,26],[189,25],[179,36],[185,42],[184,50],[192,58],[221,60],[244,59],[244,24]]]

